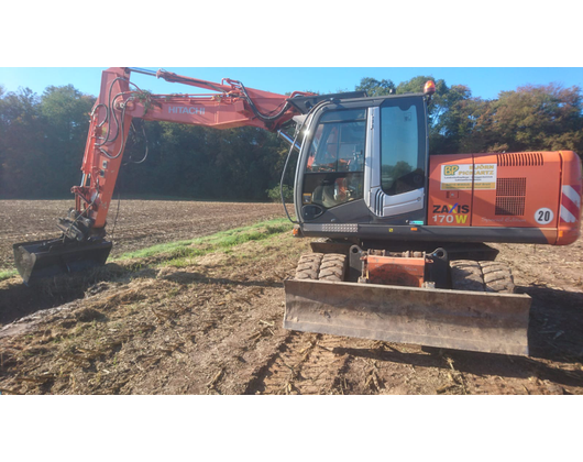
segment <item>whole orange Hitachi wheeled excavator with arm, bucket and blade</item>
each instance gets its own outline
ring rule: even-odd
[[[132,72],[213,94],[152,95]],[[59,219],[59,238],[13,245],[16,268],[33,285],[106,263],[132,118],[258,127],[289,143],[287,161],[297,152],[295,220],[285,211],[294,235],[317,238],[284,282],[285,328],[527,355],[531,299],[514,293],[512,268],[486,243],[573,243],[581,160],[572,151],[429,155],[433,92],[429,81],[418,94],[282,96],[231,79],[105,70],[76,206]],[[289,135],[282,129],[293,122]]]

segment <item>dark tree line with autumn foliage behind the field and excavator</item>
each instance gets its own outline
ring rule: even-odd
[[[363,78],[369,96],[421,91],[431,77],[395,85]],[[493,100],[433,79],[430,154],[558,151],[583,153],[581,88],[525,85]],[[72,85],[7,92],[0,82],[0,198],[66,198],[80,182],[96,97]],[[293,128],[289,129],[293,132]],[[147,153],[147,155],[146,155]],[[216,130],[134,119],[117,193],[122,197],[267,200],[278,197],[288,145],[256,128]],[[145,160],[144,160],[145,157]],[[143,162],[142,162],[143,161]],[[293,184],[289,168],[287,184]],[[276,193],[277,191],[277,193]]]

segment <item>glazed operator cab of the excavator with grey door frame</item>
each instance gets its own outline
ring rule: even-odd
[[[336,223],[424,220],[428,146],[422,96],[331,99],[320,102],[306,124],[295,190],[305,235],[328,233]],[[342,226],[342,233],[349,228]]]

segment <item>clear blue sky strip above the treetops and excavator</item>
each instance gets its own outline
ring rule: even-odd
[[[136,66],[157,70],[158,67]],[[6,91],[30,88],[42,95],[48,86],[73,85],[97,96],[101,70],[107,67],[0,67],[0,85]],[[583,89],[583,67],[163,67],[178,75],[220,82],[222,78],[242,81],[245,87],[285,94],[290,91],[351,91],[362,78],[391,79],[396,85],[424,75],[444,79],[448,86],[466,85],[472,96],[495,99],[501,91],[532,84],[562,84]],[[204,92],[179,84],[169,84],[132,74],[140,88],[155,94]]]

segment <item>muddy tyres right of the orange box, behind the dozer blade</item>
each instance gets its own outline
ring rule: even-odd
[[[450,262],[451,286],[457,290],[514,294],[515,285],[510,267],[502,262]]]

